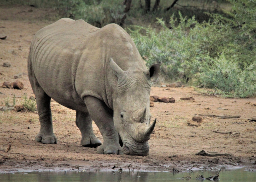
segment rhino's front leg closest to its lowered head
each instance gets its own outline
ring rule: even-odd
[[[119,144],[118,133],[114,127],[113,115],[109,112],[106,104],[91,96],[85,97],[84,102],[103,137],[103,144],[98,147],[97,153],[123,154]]]

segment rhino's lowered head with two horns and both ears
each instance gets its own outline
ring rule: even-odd
[[[148,140],[156,118],[150,125],[150,78],[159,73],[159,65],[148,70],[122,70],[111,58],[110,67],[118,77],[114,105],[114,126],[123,142],[122,152],[128,155],[148,155]]]

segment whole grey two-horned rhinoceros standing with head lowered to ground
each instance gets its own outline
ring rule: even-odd
[[[76,111],[81,145],[98,147],[98,154],[148,155],[156,123],[150,124],[150,79],[159,70],[157,64],[147,69],[131,37],[117,24],[96,28],[62,18],[40,29],[28,56],[40,121],[35,140],[57,143],[52,98]],[[103,144],[93,133],[92,120]]]

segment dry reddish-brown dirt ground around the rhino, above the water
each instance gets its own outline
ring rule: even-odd
[[[32,9],[32,12],[28,10]],[[52,23],[44,17],[54,14],[51,9],[32,7],[1,7],[0,34],[7,39],[0,40],[0,65],[10,62],[11,67],[0,66],[0,84],[4,81],[21,81],[23,90],[0,87],[1,106],[9,97],[12,104],[16,96],[16,104],[20,104],[24,93],[33,96],[27,76],[27,57],[33,35],[44,26]],[[54,15],[53,15],[54,16]],[[14,79],[15,74],[24,73]],[[96,149],[81,146],[81,134],[75,125],[75,111],[67,109],[55,101],[51,102],[54,133],[58,144],[45,145],[34,140],[40,123],[38,115],[33,112],[0,111],[0,171],[8,170],[112,170],[114,165],[128,170],[160,170],[172,171],[173,168],[186,170],[217,169],[220,166],[255,169],[256,161],[256,122],[247,118],[256,117],[256,107],[248,102],[256,103],[255,98],[221,98],[206,96],[193,87],[171,88],[164,90],[152,87],[151,95],[174,97],[175,103],[155,102],[150,108],[152,118],[157,118],[155,133],[149,140],[148,156],[98,155]],[[193,97],[195,100],[180,100]],[[206,109],[209,108],[209,109]],[[219,109],[222,108],[222,109]],[[188,126],[194,115],[241,115],[239,119],[220,119],[203,117],[199,127]],[[28,129],[29,127],[29,129]],[[238,131],[240,135],[214,133],[213,130]],[[96,136],[102,136],[93,123]],[[11,149],[4,152],[8,145]],[[229,153],[231,156],[204,157],[196,156],[200,150]]]

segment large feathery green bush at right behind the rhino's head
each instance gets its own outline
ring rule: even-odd
[[[198,23],[179,14],[171,29],[128,29],[147,64],[162,64],[162,74],[191,85],[222,91],[229,97],[256,95],[256,4],[232,0],[228,16],[210,14]],[[230,18],[227,18],[230,17]],[[177,25],[178,22],[178,25]],[[177,25],[177,26],[176,26]]]

